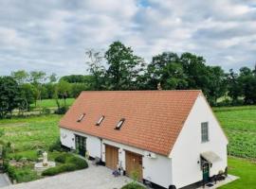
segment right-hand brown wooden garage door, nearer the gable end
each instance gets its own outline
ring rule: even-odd
[[[142,178],[142,156],[130,151],[125,151],[125,166],[126,174],[129,177],[133,177],[133,174],[137,174],[137,180],[141,181]]]

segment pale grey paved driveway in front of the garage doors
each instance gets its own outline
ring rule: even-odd
[[[89,164],[89,168],[3,187],[1,189],[119,189],[131,181],[127,177],[112,175],[105,166]]]

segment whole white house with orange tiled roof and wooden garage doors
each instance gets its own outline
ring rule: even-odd
[[[228,139],[201,91],[83,92],[60,122],[64,146],[155,188],[210,180]]]

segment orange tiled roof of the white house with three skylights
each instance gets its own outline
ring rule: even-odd
[[[168,156],[201,91],[82,92],[60,121],[77,130]],[[77,122],[86,113],[81,122]],[[104,115],[101,126],[96,123]],[[125,118],[121,129],[115,129]]]

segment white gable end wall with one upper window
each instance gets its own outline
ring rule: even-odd
[[[209,123],[209,142],[201,143],[201,123]],[[212,114],[205,98],[199,95],[170,154],[173,163],[173,181],[177,188],[203,179],[200,153],[213,151],[221,162],[210,167],[210,177],[227,167],[228,140]]]

